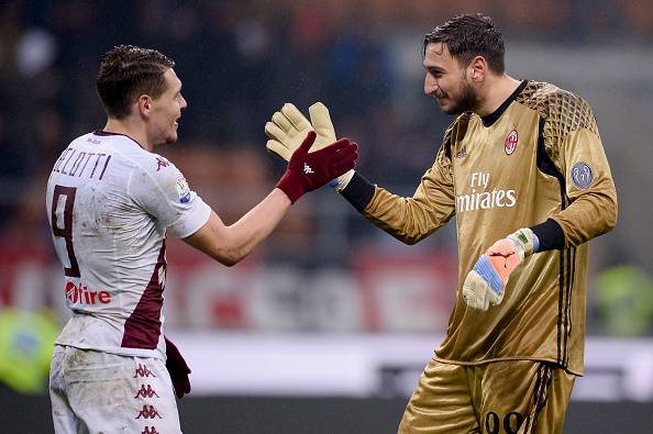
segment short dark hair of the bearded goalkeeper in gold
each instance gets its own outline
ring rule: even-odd
[[[476,56],[483,56],[490,70],[503,74],[506,69],[503,35],[487,15],[464,14],[440,24],[424,36],[422,54],[427,54],[427,45],[439,42],[446,44],[451,56],[462,66],[467,66]]]

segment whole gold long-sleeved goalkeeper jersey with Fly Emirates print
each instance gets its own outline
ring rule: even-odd
[[[456,215],[457,297],[439,360],[549,360],[583,374],[586,242],[617,220],[610,168],[583,99],[522,81],[492,114],[456,118],[411,198],[376,187],[363,213],[409,244]],[[564,232],[564,247],[525,258],[500,304],[468,308],[461,290],[478,257],[497,240],[547,219]]]

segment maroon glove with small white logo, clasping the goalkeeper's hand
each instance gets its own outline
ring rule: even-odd
[[[357,145],[341,138],[319,151],[309,153],[317,134],[309,131],[303,142],[292,153],[286,173],[277,188],[295,203],[303,193],[316,190],[332,179],[353,169],[358,157]]]

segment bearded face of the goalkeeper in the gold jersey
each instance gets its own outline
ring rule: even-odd
[[[467,79],[467,68],[454,59],[446,44],[427,45],[424,53],[424,93],[432,96],[446,114],[474,111],[478,97]]]

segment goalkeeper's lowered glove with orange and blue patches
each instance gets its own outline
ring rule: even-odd
[[[528,227],[492,244],[465,278],[463,298],[467,305],[485,311],[490,304],[499,304],[510,272],[538,252],[539,244],[538,236]]]

